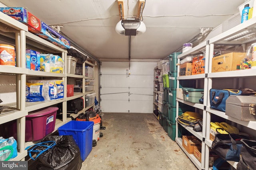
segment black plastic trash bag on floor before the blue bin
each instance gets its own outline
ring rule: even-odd
[[[44,141],[55,141],[52,149],[43,152],[38,158],[38,170],[80,170],[82,159],[80,149],[72,135],[48,136]]]

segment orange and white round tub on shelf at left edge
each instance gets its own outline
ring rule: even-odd
[[[0,65],[15,66],[14,46],[0,44]]]

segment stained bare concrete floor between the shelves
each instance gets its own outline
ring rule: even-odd
[[[197,170],[153,114],[104,113],[103,137],[81,170]]]

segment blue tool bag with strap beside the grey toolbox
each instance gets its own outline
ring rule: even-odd
[[[230,95],[242,95],[242,90],[210,89],[210,107],[225,112],[226,100]]]

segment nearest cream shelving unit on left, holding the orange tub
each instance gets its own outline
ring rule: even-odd
[[[16,38],[16,46],[20,45],[20,42],[26,42],[25,32],[28,31],[28,27],[19,21],[16,21],[9,16],[3,14],[0,12],[0,32],[2,33],[10,33]],[[0,67],[0,73],[9,74],[9,75],[16,75],[16,93],[17,97],[25,98],[25,90],[22,91],[18,87],[25,88],[26,85],[26,65],[25,62],[22,61],[22,59],[25,59],[25,53],[26,53],[26,47],[25,44],[20,45],[19,48],[16,49],[16,64],[17,68],[13,66],[1,66]],[[17,98],[16,100],[16,106],[14,106],[16,109],[14,112],[6,113],[3,115],[0,115],[0,123],[6,123],[8,121],[12,121],[17,119],[17,121],[20,123],[20,132],[25,134],[25,116],[28,115],[28,111],[25,107],[25,101],[20,100],[20,98]],[[25,135],[20,136],[19,140],[17,141],[19,152],[18,156],[14,158],[13,160],[22,159],[27,155],[27,152],[25,150]]]

